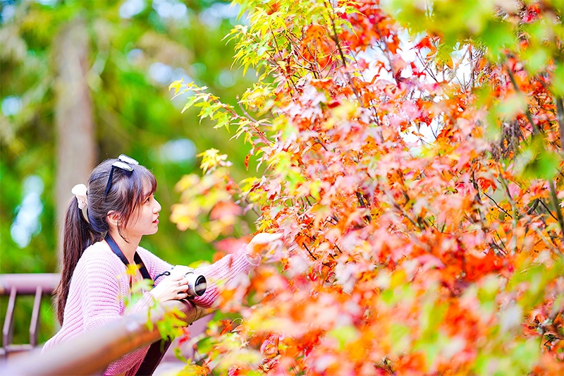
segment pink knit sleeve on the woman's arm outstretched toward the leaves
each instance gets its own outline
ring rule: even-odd
[[[207,280],[207,289],[204,295],[194,298],[194,303],[203,308],[212,308],[225,286],[235,287],[242,278],[246,278],[250,270],[258,265],[255,260],[241,249],[231,255],[226,255],[212,265],[199,267],[196,274],[202,274]]]

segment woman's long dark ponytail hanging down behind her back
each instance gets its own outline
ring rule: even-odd
[[[78,259],[89,245],[102,239],[102,234],[94,231],[82,216],[82,210],[78,208],[78,201],[75,197],[68,202],[61,238],[63,240],[63,265],[61,280],[55,290],[55,296],[57,320],[59,324],[63,325],[68,289],[71,286],[71,277],[73,277]]]

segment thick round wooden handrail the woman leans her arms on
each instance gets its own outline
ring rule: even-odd
[[[34,348],[13,356],[1,366],[0,375],[101,375],[114,360],[161,339],[156,323],[162,320],[166,310],[175,308],[184,313],[185,317],[179,318],[185,325],[210,313],[187,301],[166,302],[161,308],[151,310],[150,315],[149,310],[126,315],[44,353]],[[147,325],[149,317],[154,324],[152,329]],[[160,358],[149,359],[149,364],[144,363],[144,370],[137,375],[151,375],[159,361]]]

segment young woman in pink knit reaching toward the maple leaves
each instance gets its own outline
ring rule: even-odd
[[[127,313],[147,309],[154,301],[188,296],[185,277],[159,277],[172,265],[141,248],[142,236],[157,232],[161,205],[154,198],[157,181],[135,159],[121,155],[99,164],[87,186],[73,188],[63,228],[63,269],[56,289],[57,317],[61,330],[43,351],[84,332],[116,320],[125,313],[130,286],[142,280],[142,272],[154,281],[154,289],[128,307]],[[217,283],[236,282],[257,265],[258,257],[245,250],[196,269],[207,279],[207,290],[193,299],[210,308],[219,296]],[[131,276],[126,264],[140,265]],[[144,269],[145,267],[145,269]],[[149,346],[109,365],[104,375],[135,375]]]

